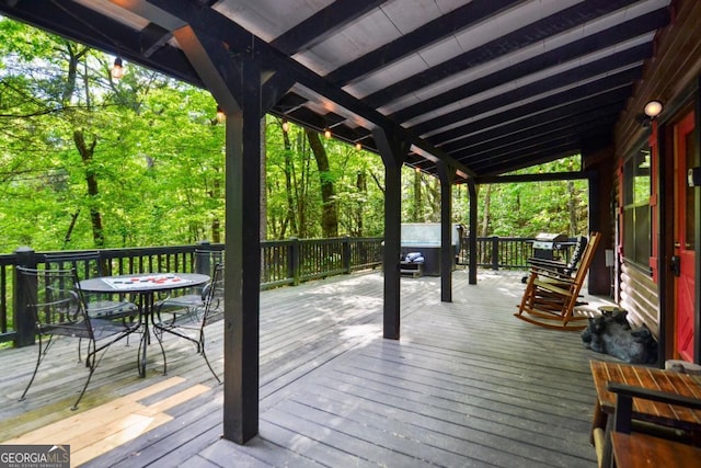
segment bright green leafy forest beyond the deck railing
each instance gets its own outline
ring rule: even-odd
[[[0,16],[0,253],[223,239],[225,125],[204,90]],[[268,115],[262,239],[381,237],[383,167]],[[574,155],[520,173],[578,170]],[[437,222],[440,184],[404,168],[402,219]],[[479,236],[586,233],[585,181],[479,187]],[[467,187],[453,222],[468,224]]]

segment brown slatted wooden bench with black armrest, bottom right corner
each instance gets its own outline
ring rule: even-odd
[[[589,364],[597,391],[591,443],[599,467],[611,458],[619,467],[701,467],[701,378],[613,362]],[[675,464],[677,458],[683,463]]]

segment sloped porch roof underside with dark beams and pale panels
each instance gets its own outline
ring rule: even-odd
[[[445,160],[479,179],[609,145],[669,3],[37,0],[0,12],[208,88],[173,36],[189,25],[260,61],[272,113],[374,151],[382,127],[412,142],[410,165],[436,173]]]

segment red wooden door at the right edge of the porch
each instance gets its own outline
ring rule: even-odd
[[[694,206],[693,187],[687,183],[687,171],[693,164],[693,112],[675,125],[675,301],[676,351],[679,357],[693,362],[694,341]]]

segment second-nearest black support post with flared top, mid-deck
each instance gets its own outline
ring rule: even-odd
[[[395,135],[377,128],[372,132],[384,163],[384,311],[383,336],[399,340],[400,335],[400,271],[402,186],[401,170],[410,145]]]

